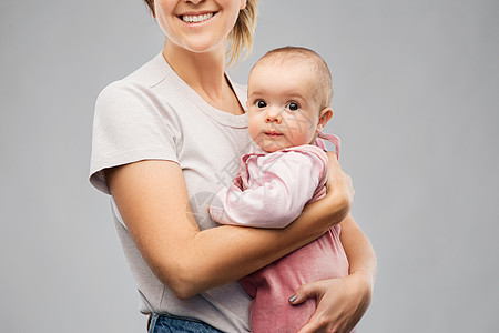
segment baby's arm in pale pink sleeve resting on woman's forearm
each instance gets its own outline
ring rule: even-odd
[[[325,155],[324,152],[320,151]],[[259,170],[251,183],[242,190],[236,184],[221,190],[214,198],[210,214],[222,224],[254,228],[285,228],[303,211],[327,170],[316,153],[288,151],[277,158],[262,157],[268,163]]]

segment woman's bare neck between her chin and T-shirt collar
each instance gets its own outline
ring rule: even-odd
[[[203,99],[223,99],[228,85],[225,80],[225,49],[195,53],[166,39],[163,57],[179,77]]]

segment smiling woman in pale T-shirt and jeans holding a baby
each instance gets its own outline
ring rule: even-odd
[[[100,94],[91,182],[112,194],[116,230],[150,332],[247,332],[249,299],[235,282],[342,223],[344,279],[296,291],[317,299],[303,332],[348,332],[366,311],[376,260],[348,214],[353,189],[333,154],[325,199],[283,230],[215,226],[206,200],[237,171],[249,142],[245,91],[225,74],[225,47],[249,49],[256,0],[145,1],[161,54]],[[162,331],[164,330],[164,331]]]

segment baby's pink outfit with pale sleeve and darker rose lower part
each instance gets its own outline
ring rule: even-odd
[[[336,147],[339,139],[320,133]],[[327,180],[327,155],[322,140],[273,153],[256,150],[241,159],[238,176],[220,191],[210,206],[222,224],[285,228],[306,203],[322,199]],[[309,320],[316,303],[309,299],[291,305],[289,296],[302,285],[348,275],[348,261],[339,241],[339,225],[316,241],[240,280],[254,297],[251,325],[254,333],[297,332]]]

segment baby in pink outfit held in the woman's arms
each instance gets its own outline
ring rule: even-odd
[[[333,117],[332,78],[324,60],[305,48],[267,52],[249,74],[247,114],[256,143],[242,157],[238,176],[220,191],[210,214],[222,224],[285,228],[305,204],[326,193],[327,139],[339,153],[339,139],[322,132]],[[319,139],[318,139],[319,138]],[[315,300],[291,305],[304,283],[346,276],[348,261],[339,225],[318,240],[256,271],[240,283],[252,296],[252,332],[297,332],[315,311]]]

